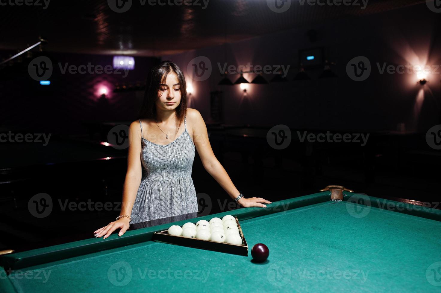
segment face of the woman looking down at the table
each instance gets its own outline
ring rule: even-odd
[[[159,99],[156,106],[161,110],[174,110],[181,102],[181,85],[178,76],[174,72],[167,74],[159,86]]]

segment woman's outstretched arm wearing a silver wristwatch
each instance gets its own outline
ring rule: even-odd
[[[194,146],[198,151],[205,170],[213,176],[232,199],[235,199],[239,196],[239,190],[236,189],[224,167],[222,167],[219,160],[214,156],[213,149],[211,148],[208,139],[207,127],[201,113],[195,109],[188,110],[190,114],[189,117],[191,118],[191,125],[193,127]],[[243,207],[266,208],[265,204],[271,204],[271,202],[262,197],[242,197],[239,199],[239,204]]]

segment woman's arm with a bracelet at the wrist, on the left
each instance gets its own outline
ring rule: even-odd
[[[139,122],[132,122],[129,130],[129,149],[127,155],[127,173],[124,180],[123,202],[121,204],[120,215],[130,217],[133,204],[135,203],[136,194],[138,193],[139,184],[141,183],[142,166],[141,166],[141,128]],[[130,220],[128,218],[120,218],[118,221],[111,222],[107,226],[93,232],[95,237],[103,239],[110,236],[116,229],[121,229],[119,236],[126,233],[129,228]]]

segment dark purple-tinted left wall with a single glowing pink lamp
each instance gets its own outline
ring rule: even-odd
[[[52,62],[51,85],[40,85],[28,73],[27,65],[38,55],[48,56]],[[2,52],[0,56],[8,54]],[[112,56],[43,52],[26,59],[23,55],[22,63],[15,59],[13,66],[0,70],[0,127],[80,134],[85,132],[85,123],[135,120],[144,91],[112,91],[116,83],[145,83],[148,70],[157,62],[156,58],[135,58],[135,70],[126,76],[124,71],[99,72],[97,66],[112,65]],[[66,65],[89,63],[93,67],[86,68],[85,74],[69,70],[63,73]],[[100,96],[103,88],[107,89],[106,97]]]

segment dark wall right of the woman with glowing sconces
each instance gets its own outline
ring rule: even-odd
[[[334,23],[299,27],[237,43],[203,48],[164,56],[186,72],[194,95],[191,106],[209,115],[209,92],[223,91],[224,123],[329,130],[406,130],[426,132],[439,124],[441,62],[439,15],[426,4],[366,17],[348,17]],[[318,32],[311,42],[307,31]],[[308,70],[308,82],[292,82],[298,71],[298,51],[324,47],[325,56],[336,62],[334,79],[318,79],[322,68]],[[194,81],[188,63],[198,56],[209,58],[212,73],[205,81]],[[356,56],[366,56],[371,63],[370,77],[363,82],[348,77],[346,66]],[[249,85],[247,94],[239,85],[217,85],[221,71],[217,63],[228,65],[291,65],[287,83]],[[416,74],[380,74],[380,67],[434,65],[434,74],[422,87]],[[263,74],[269,81],[271,74]],[[244,74],[249,82],[256,74]],[[230,76],[234,82],[238,75]]]

